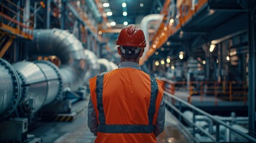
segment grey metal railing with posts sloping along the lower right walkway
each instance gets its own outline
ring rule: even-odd
[[[211,114],[206,113],[205,111],[189,104],[188,102],[181,100],[178,97],[175,97],[174,95],[169,94],[168,92],[164,91],[165,95],[165,104],[168,105],[168,107],[171,108],[171,112],[178,113],[178,119],[186,119],[188,122],[190,122],[190,125],[192,126],[192,136],[195,139],[196,132],[201,132],[203,135],[208,136],[209,139],[211,139],[213,142],[220,142],[220,125],[226,127],[230,131],[237,133],[238,135],[242,136],[242,138],[250,141],[250,142],[256,142],[255,138],[252,138],[252,136],[247,135],[246,133],[241,132],[240,130],[234,129],[232,126],[228,125],[227,123],[224,123],[220,119],[215,118]],[[172,102],[175,100],[175,102],[178,102],[178,108],[175,107],[175,105],[172,104]],[[188,117],[184,116],[184,114],[181,112],[181,108],[186,106],[193,112],[193,120],[191,121]],[[208,117],[209,120],[212,121],[212,123],[216,126],[216,132],[215,133],[209,133],[209,131],[203,129],[201,126],[196,125],[196,115],[203,115]],[[196,139],[195,139],[196,141]]]

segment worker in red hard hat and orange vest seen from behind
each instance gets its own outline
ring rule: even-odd
[[[118,69],[90,79],[88,127],[95,142],[156,142],[164,131],[162,82],[138,65],[146,41],[143,30],[131,24],[116,40]]]

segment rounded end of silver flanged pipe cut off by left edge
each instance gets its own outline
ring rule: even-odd
[[[16,109],[21,97],[21,83],[16,70],[0,58],[0,120]]]

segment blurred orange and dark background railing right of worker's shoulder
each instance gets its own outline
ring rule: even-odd
[[[215,98],[215,105],[218,104],[218,99],[224,101],[243,101],[246,105],[248,100],[248,82],[238,81],[190,81],[190,82],[174,82],[171,80],[162,80],[165,82],[165,90],[172,95],[178,89],[184,89],[188,94],[188,102],[192,103],[192,98],[195,95],[200,96],[200,101],[203,102],[205,95]]]

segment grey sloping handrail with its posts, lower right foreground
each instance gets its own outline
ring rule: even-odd
[[[214,142],[219,142],[219,141],[220,141],[220,125],[223,125],[223,126],[225,126],[226,128],[232,130],[232,132],[237,133],[238,135],[242,136],[242,137],[245,138],[245,139],[248,139],[248,141],[256,142],[256,139],[255,139],[255,138],[252,138],[252,136],[249,136],[249,135],[247,135],[246,133],[241,132],[240,130],[234,129],[232,126],[227,125],[227,123],[221,121],[220,119],[215,118],[215,117],[212,116],[211,114],[206,113],[205,111],[203,111],[203,110],[201,110],[201,109],[199,109],[199,108],[197,108],[197,107],[195,107],[195,106],[189,104],[188,102],[186,102],[186,101],[184,101],[184,100],[181,100],[180,98],[175,97],[174,95],[171,95],[171,94],[169,94],[169,93],[166,92],[166,91],[164,91],[164,95],[170,97],[171,100],[174,99],[175,101],[180,102],[180,104],[179,104],[180,106],[181,106],[181,104],[184,104],[184,105],[186,105],[186,107],[189,107],[189,108],[193,111],[193,122],[192,122],[193,133],[192,133],[192,134],[193,134],[194,137],[195,137],[195,129],[197,128],[197,129],[201,130],[201,132],[204,133],[206,136],[208,136],[209,138],[211,138],[212,141],[214,141]],[[166,102],[167,105],[169,105],[169,107],[172,108],[172,110],[175,110],[175,111],[179,114],[179,116],[182,116],[183,118],[189,120],[186,116],[183,115],[183,113],[181,112],[181,108],[175,107],[174,105],[171,104],[171,102],[169,102],[169,101],[166,100],[166,99],[165,99],[165,102]],[[199,113],[199,114],[202,114],[203,116],[208,117],[209,119],[211,119],[211,120],[216,124],[216,128],[217,128],[217,129],[216,129],[215,136],[210,135],[208,132],[206,132],[206,130],[204,130],[204,129],[202,129],[200,126],[196,125],[196,123],[195,123],[195,116],[196,116],[196,113]],[[180,118],[180,120],[181,120],[181,118]],[[189,121],[190,121],[190,120],[189,120]]]

